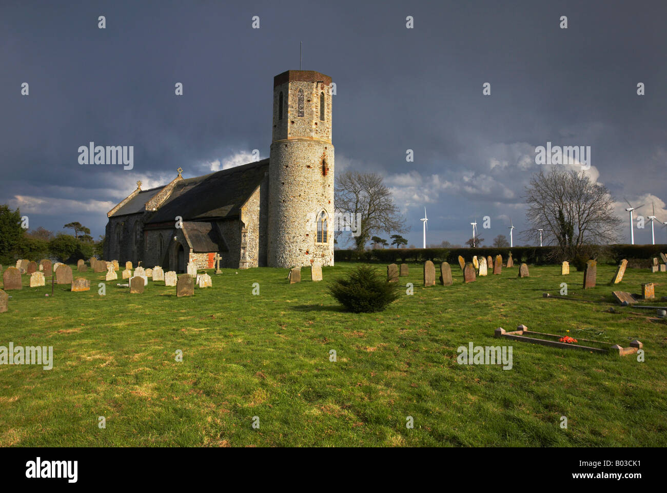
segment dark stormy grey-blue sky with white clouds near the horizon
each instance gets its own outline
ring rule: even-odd
[[[336,83],[336,172],[381,173],[410,244],[424,207],[427,243],[462,244],[489,216],[484,244],[510,218],[527,244],[523,196],[547,142],[590,146],[586,173],[629,242],[624,197],[667,221],[666,17],[642,0],[2,0],[0,204],[31,229],[79,221],[97,238],[137,180],[268,157],[273,76],[299,69],[303,42],[303,69]],[[132,145],[133,169],[80,164],[91,141]],[[635,242],[651,242],[648,222]]]

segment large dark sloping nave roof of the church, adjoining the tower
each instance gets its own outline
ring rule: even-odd
[[[210,175],[182,179],[147,224],[174,221],[178,215],[183,221],[239,217],[241,205],[259,186],[267,171],[269,159],[262,159]]]

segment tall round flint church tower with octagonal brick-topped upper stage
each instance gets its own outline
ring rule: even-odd
[[[333,266],[331,77],[288,70],[273,77],[268,264]]]

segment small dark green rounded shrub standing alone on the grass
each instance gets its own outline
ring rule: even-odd
[[[346,311],[353,313],[382,312],[398,298],[398,285],[371,266],[359,266],[347,278],[329,286],[329,293]]]

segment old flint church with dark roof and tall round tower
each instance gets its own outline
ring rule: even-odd
[[[269,158],[137,189],[107,213],[104,258],[186,272],[333,266],[331,77],[273,77]]]

